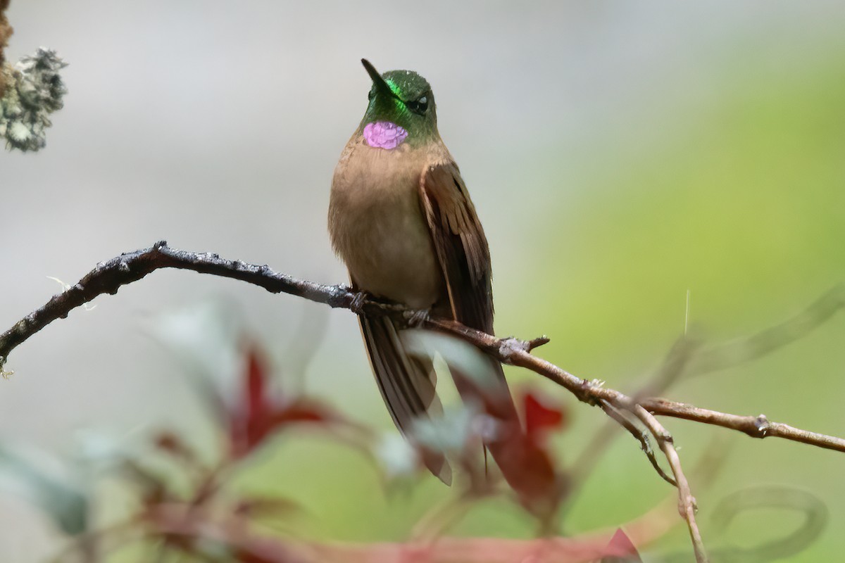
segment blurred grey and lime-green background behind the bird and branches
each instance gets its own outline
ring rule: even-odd
[[[46,276],[74,283],[162,238],[344,281],[325,214],[335,161],[366,104],[361,57],[433,84],[440,132],[490,241],[497,330],[548,334],[539,355],[576,375],[634,390],[683,333],[688,291],[690,326],[719,341],[780,322],[845,279],[842,3],[13,0],[8,18],[9,59],[45,45],[70,66],[46,149],[0,154],[3,328],[57,291]],[[144,328],[200,298],[243,309],[291,376],[298,360],[287,344],[303,317],[325,319],[304,387],[390,429],[348,311],[160,272],[14,352],[0,436],[63,454],[81,428],[172,426],[209,444],[182,366]],[[835,317],[669,396],[845,436],[843,337]],[[510,376],[569,405],[564,462],[588,447],[603,414],[536,376]],[[787,533],[793,515],[780,513],[709,533],[724,495],[777,483],[810,490],[831,511],[821,538],[790,560],[842,552],[841,454],[666,424],[690,465],[713,436],[732,447],[697,493],[706,544]],[[356,541],[402,539],[450,495],[434,479],[384,495],[361,457],[308,435],[267,452],[241,486],[302,501],[311,516],[301,533]],[[638,445],[619,439],[566,528],[613,527],[672,494]],[[515,506],[491,501],[451,533],[532,531]],[[56,539],[35,509],[0,499],[0,560],[43,560]],[[659,549],[686,541],[679,529]]]

